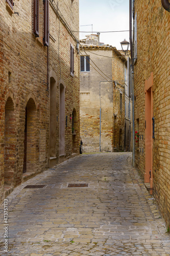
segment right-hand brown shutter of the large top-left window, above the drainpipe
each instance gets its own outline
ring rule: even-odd
[[[44,46],[49,46],[49,0],[43,0],[44,3]]]

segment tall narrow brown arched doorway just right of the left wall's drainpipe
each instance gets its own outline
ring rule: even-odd
[[[53,72],[54,73],[54,72]],[[56,157],[56,79],[50,77],[50,158]]]

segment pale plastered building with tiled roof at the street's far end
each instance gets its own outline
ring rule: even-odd
[[[100,45],[98,37],[88,35],[86,40],[80,40],[80,136],[83,152],[130,150],[131,120],[128,120],[128,112],[125,113],[125,104],[129,109],[127,59],[115,47]]]

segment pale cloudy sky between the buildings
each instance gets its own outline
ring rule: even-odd
[[[80,0],[80,39],[93,31],[129,30],[129,0]],[[92,26],[82,26],[91,25]],[[93,32],[93,34],[95,34]],[[122,49],[120,42],[129,41],[129,32],[101,33],[100,42]]]

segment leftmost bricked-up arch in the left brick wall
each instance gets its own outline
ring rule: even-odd
[[[14,102],[9,96],[5,104],[5,143],[4,143],[4,184],[14,184],[16,168],[16,119]]]

